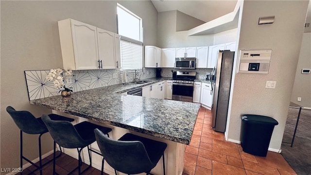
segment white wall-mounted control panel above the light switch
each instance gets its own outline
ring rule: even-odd
[[[241,50],[239,73],[268,73],[272,49]]]

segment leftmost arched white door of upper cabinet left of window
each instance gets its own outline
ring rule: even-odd
[[[99,69],[96,27],[73,19],[70,21],[76,70]]]

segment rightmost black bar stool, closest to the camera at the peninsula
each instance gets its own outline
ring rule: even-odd
[[[126,133],[119,140],[112,140],[95,129],[97,144],[102,152],[102,175],[104,160],[116,171],[132,175],[150,174],[157,162],[163,157],[163,174],[165,175],[164,151],[166,143]]]

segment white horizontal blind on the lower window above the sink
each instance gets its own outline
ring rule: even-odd
[[[121,40],[121,71],[142,70],[142,46]]]

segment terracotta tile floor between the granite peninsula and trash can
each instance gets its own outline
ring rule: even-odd
[[[211,111],[201,107],[187,145],[183,175],[296,175],[279,153],[267,157],[244,153],[240,144],[225,141],[211,129]]]

